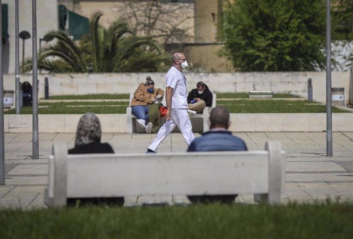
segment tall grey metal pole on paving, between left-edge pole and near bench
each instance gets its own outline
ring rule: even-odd
[[[32,0],[32,93],[33,93],[33,145],[32,145],[32,158],[39,158],[39,145],[38,145],[38,73],[37,73],[37,3]]]

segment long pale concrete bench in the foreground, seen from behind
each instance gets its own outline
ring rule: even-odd
[[[45,204],[69,198],[254,194],[280,203],[285,153],[277,141],[265,150],[173,154],[71,154],[55,144],[49,157]]]

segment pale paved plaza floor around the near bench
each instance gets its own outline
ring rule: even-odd
[[[333,157],[326,157],[325,132],[234,133],[243,138],[249,150],[263,150],[267,140],[278,140],[286,151],[286,180],[283,203],[316,202],[327,198],[353,201],[353,132],[333,133]],[[144,153],[156,134],[105,133],[118,154]],[[195,133],[198,137],[200,134]],[[74,146],[74,133],[40,133],[39,159],[31,159],[32,134],[5,134],[6,184],[0,185],[0,207],[24,209],[45,207],[43,192],[48,182],[48,157],[56,142]],[[184,152],[187,146],[180,133],[170,134],[159,152]],[[125,205],[146,202],[188,203],[186,197],[126,198]],[[252,195],[239,195],[237,203],[253,203]]]

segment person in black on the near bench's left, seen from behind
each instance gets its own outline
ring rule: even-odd
[[[69,150],[69,154],[114,154],[114,150],[108,143],[102,143],[101,127],[98,117],[93,113],[85,113],[81,116],[75,137],[75,147]],[[124,198],[69,198],[69,206],[108,204],[122,206]]]

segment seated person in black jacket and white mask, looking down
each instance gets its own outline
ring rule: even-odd
[[[213,94],[202,81],[197,82],[196,87],[188,95],[188,109],[194,110],[196,113],[202,113],[206,106],[212,106]]]

